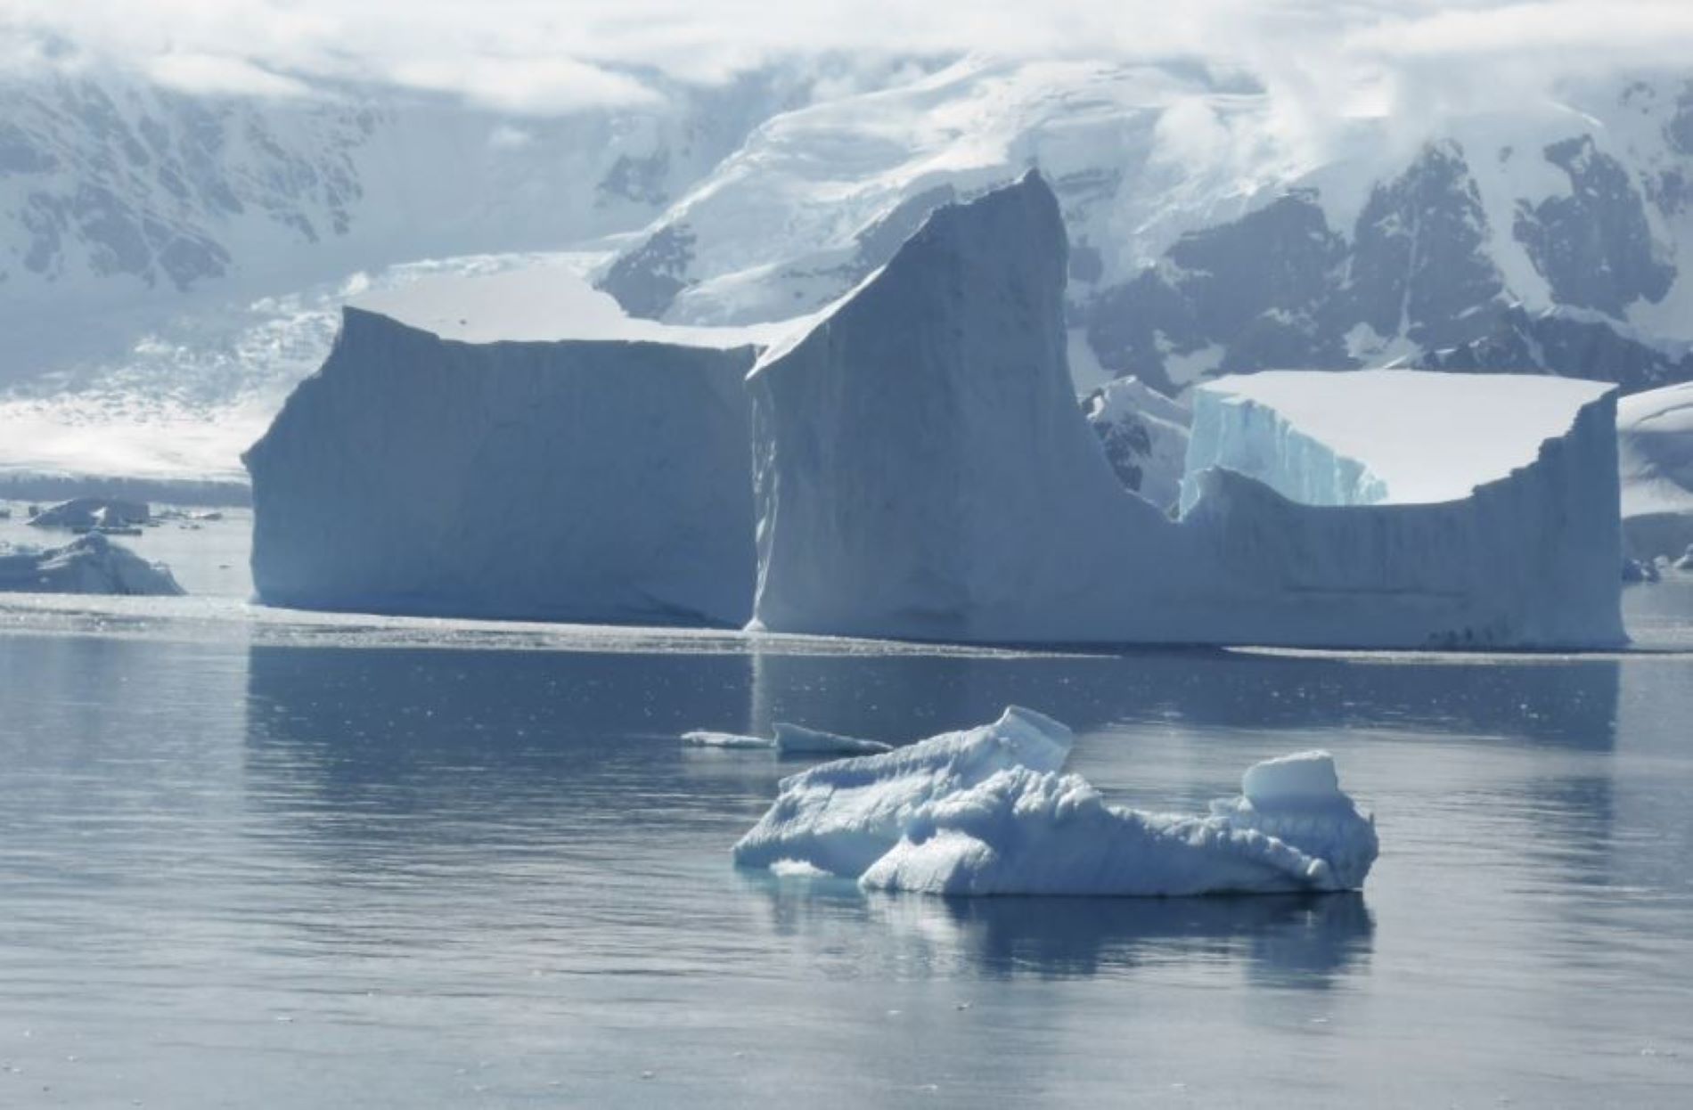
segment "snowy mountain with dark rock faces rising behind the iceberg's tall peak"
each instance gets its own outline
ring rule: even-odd
[[[1038,166],[1073,244],[1072,328],[1111,376],[1693,377],[1693,81],[1566,93],[1312,144],[1263,90],[1197,69],[967,59],[762,124],[599,283],[670,321],[791,316],[936,205]]]

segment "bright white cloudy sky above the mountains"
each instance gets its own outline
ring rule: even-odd
[[[1199,56],[1317,110],[1393,112],[1688,66],[1693,0],[0,0],[3,69],[266,96],[357,78],[527,113],[650,100],[631,64],[721,81],[824,51]]]

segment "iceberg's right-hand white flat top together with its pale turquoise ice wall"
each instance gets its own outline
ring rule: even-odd
[[[1544,374],[1238,374],[1194,389],[1187,470],[1229,467],[1302,504],[1458,501],[1534,464],[1613,389]]]

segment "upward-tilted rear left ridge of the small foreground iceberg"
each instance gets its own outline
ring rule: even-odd
[[[1058,770],[1072,739],[1051,717],[1011,707],[992,724],[813,767],[782,780],[775,804],[735,844],[735,863],[797,860],[855,878],[899,841],[928,802],[1012,767]]]

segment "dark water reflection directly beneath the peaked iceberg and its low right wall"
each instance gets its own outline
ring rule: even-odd
[[[1426,728],[1608,750],[1615,660],[1392,662],[1233,651],[1067,658],[753,655],[752,726],[804,721],[916,739],[1023,704],[1085,731],[1199,726]]]

